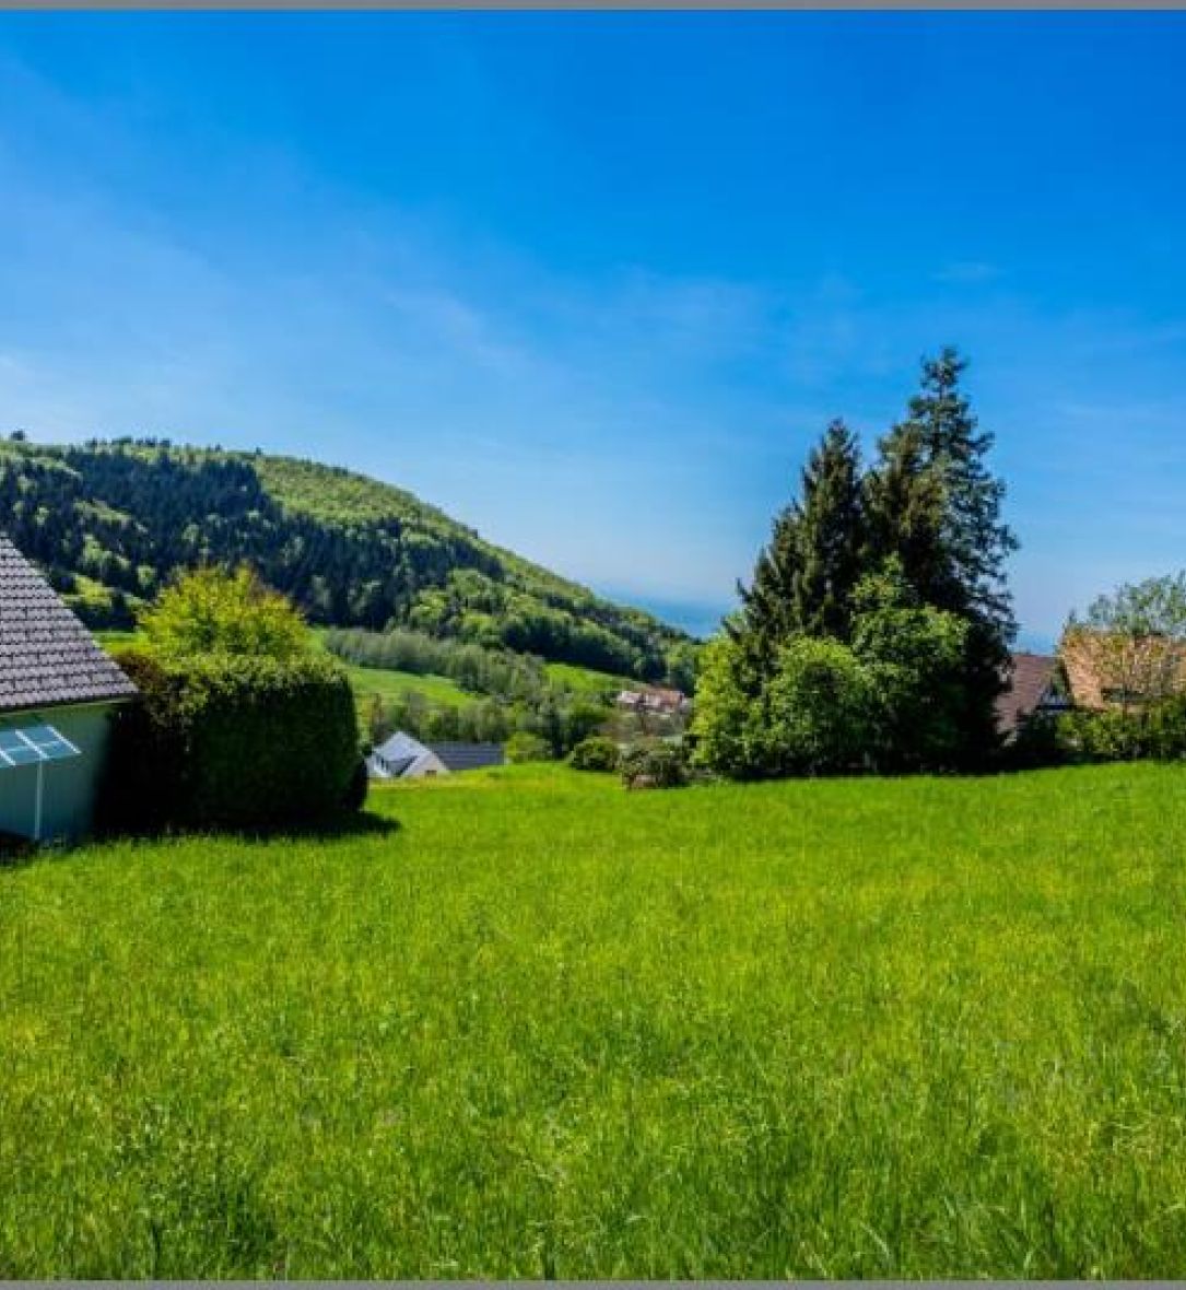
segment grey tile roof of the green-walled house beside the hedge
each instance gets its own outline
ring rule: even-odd
[[[53,587],[0,535],[0,712],[134,694]]]

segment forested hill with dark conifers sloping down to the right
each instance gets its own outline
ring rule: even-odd
[[[125,624],[178,569],[248,561],[315,623],[395,623],[690,682],[683,632],[337,467],[155,440],[0,440],[0,529],[92,626]]]

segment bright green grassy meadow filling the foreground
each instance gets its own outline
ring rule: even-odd
[[[0,1275],[1186,1271],[1182,769],[372,810],[0,872]]]

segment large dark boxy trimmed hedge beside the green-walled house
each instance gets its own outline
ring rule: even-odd
[[[117,658],[141,699],[112,731],[103,827],[277,828],[361,804],[354,697],[332,659]]]

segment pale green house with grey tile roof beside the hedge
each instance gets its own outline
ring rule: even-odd
[[[136,686],[0,537],[0,832],[88,831],[111,717]]]

